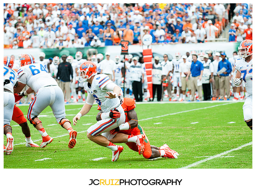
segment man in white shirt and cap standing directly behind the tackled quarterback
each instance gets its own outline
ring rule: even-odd
[[[104,59],[99,63],[99,66],[101,67],[101,73],[108,75],[110,80],[114,82],[116,63],[113,60],[109,59],[110,52],[106,52],[105,56],[106,56],[106,59]],[[113,79],[112,79],[112,75],[113,75]]]

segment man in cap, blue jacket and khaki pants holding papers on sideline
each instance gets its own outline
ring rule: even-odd
[[[231,63],[226,59],[225,52],[221,53],[222,60],[219,61],[218,71],[223,67],[226,68],[226,71],[218,75],[219,77],[219,100],[223,100],[225,98],[225,89],[227,94],[227,100],[230,98],[230,77],[229,73],[232,71]]]

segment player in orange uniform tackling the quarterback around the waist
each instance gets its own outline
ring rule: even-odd
[[[125,112],[125,121],[116,129],[110,132],[102,133],[110,142],[112,143],[125,143],[133,151],[139,152],[146,159],[154,159],[158,157],[165,158],[178,158],[178,152],[169,148],[167,144],[163,144],[160,148],[157,146],[150,145],[150,142],[143,130],[143,128],[138,124],[138,117],[135,112],[135,101],[131,98],[124,98],[123,94],[119,94],[121,106]],[[98,107],[98,110],[101,110]],[[100,111],[97,114],[97,121],[101,120]],[[139,146],[136,144],[136,140],[139,136],[144,136],[144,150],[141,153]]]

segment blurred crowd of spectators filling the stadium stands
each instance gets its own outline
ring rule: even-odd
[[[82,48],[252,39],[252,4],[4,4],[4,48]],[[250,34],[251,33],[251,34]]]

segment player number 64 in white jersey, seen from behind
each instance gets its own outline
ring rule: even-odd
[[[33,91],[37,92],[34,100],[29,105],[27,119],[42,135],[41,148],[53,141],[53,138],[46,133],[42,126],[42,121],[37,117],[47,106],[52,108],[56,121],[69,132],[69,148],[74,148],[76,144],[77,132],[71,127],[71,122],[66,118],[64,97],[61,88],[47,73],[42,64],[34,63],[31,54],[23,54],[20,57],[20,69],[18,70],[18,85],[14,88],[15,93],[25,96]],[[20,92],[25,85],[30,88]]]

